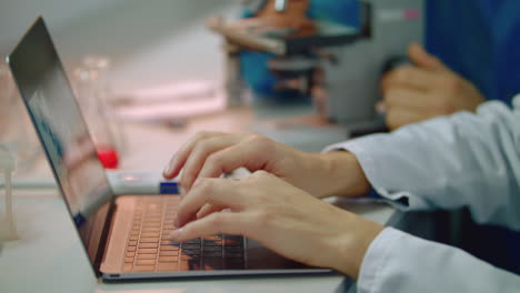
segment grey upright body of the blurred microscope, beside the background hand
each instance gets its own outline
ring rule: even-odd
[[[314,85],[322,89],[313,97],[322,115],[349,129],[381,124],[376,111],[381,77],[408,62],[408,44],[422,43],[423,22],[422,0],[363,1],[359,38],[326,49],[337,61],[321,62],[323,77]]]

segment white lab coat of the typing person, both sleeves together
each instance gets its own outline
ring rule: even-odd
[[[512,111],[490,101],[477,114],[437,118],[326,151],[337,149],[352,152],[376,191],[399,209],[468,206],[478,223],[520,231],[520,94]],[[358,292],[518,293],[520,276],[387,228],[363,259]]]

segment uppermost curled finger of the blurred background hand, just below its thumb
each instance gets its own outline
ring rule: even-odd
[[[413,65],[401,65],[384,74],[381,81],[381,91],[383,94],[391,88],[412,88],[428,91],[438,83],[441,81],[434,72]]]

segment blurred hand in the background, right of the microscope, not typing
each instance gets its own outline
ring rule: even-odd
[[[457,111],[474,111],[484,101],[473,84],[420,44],[410,44],[408,54],[414,65],[399,67],[381,82],[387,125],[391,130]]]

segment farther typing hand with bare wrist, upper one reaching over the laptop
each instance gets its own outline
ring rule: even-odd
[[[184,143],[167,165],[163,175],[177,176],[188,192],[198,178],[218,178],[238,168],[263,170],[308,193],[359,195],[369,183],[349,152],[307,153],[257,133],[202,132]]]

